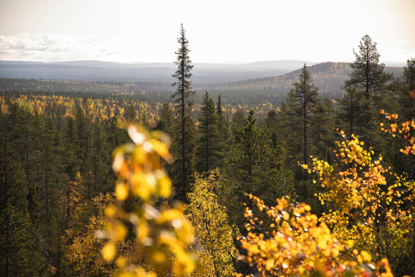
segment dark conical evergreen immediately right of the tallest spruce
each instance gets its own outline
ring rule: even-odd
[[[221,159],[218,144],[218,115],[215,114],[215,103],[207,91],[203,97],[200,111],[197,128],[196,169],[202,173],[214,169]]]

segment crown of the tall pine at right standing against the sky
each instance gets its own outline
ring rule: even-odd
[[[356,60],[350,64],[353,69],[349,74],[350,80],[345,87],[356,86],[363,91],[367,100],[375,93],[386,89],[386,85],[393,79],[391,74],[385,73],[385,64],[379,64],[380,54],[376,48],[377,43],[372,42],[369,35],[362,37],[359,44],[359,53],[353,50]]]

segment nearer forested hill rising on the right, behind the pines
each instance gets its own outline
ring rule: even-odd
[[[323,97],[337,97],[342,94],[341,87],[344,81],[349,78],[351,72],[349,63],[345,62],[323,62],[308,67],[313,78],[313,83],[320,89]],[[400,76],[403,72],[402,67],[385,67],[385,71]],[[262,78],[252,78],[238,82],[231,82],[215,87],[222,91],[275,91],[288,92],[293,88],[293,83],[298,81],[301,69],[280,75]]]

